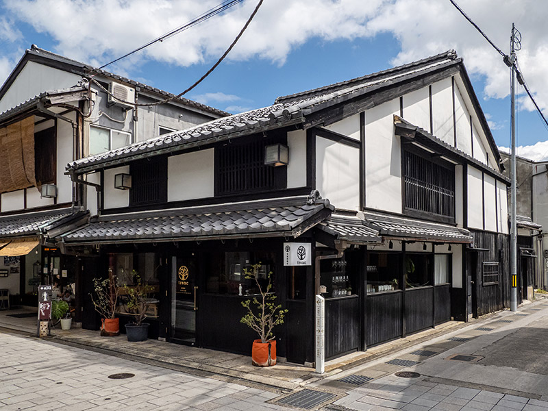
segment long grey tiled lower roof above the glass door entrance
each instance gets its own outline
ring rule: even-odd
[[[327,200],[306,197],[199,208],[115,214],[62,236],[66,243],[195,240],[238,236],[299,236],[331,214]]]

